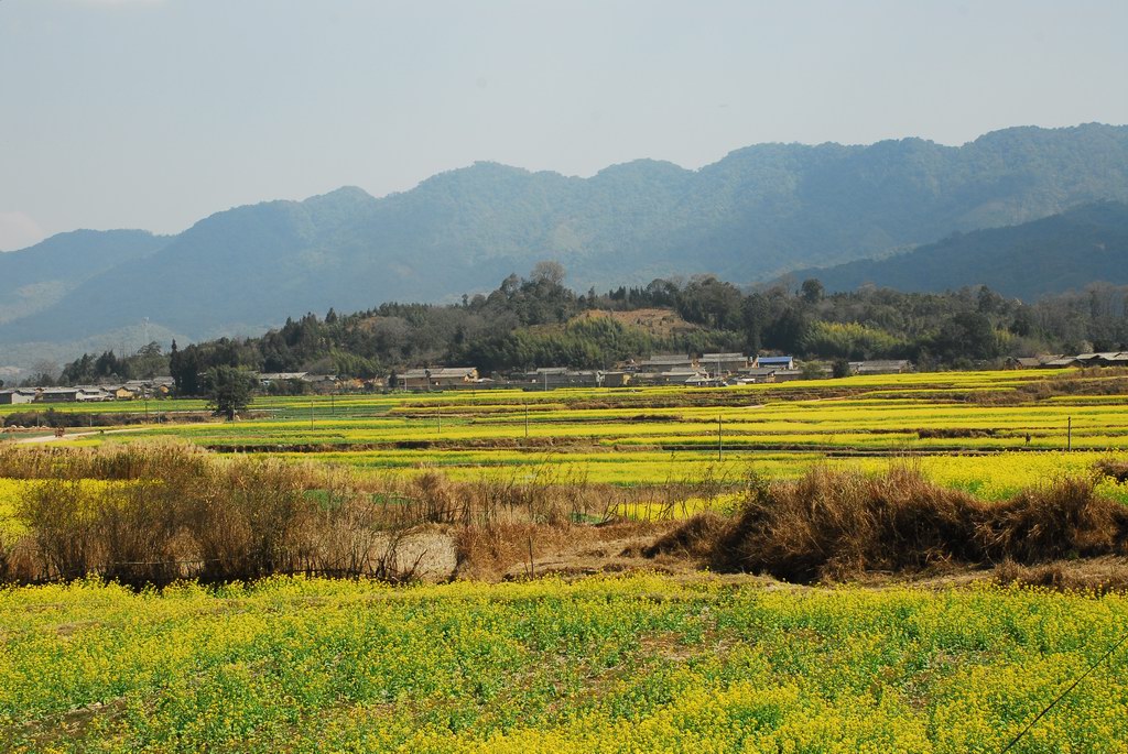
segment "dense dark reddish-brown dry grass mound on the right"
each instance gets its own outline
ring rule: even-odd
[[[1126,543],[1128,508],[1099,496],[1091,479],[990,503],[908,467],[876,476],[816,468],[795,482],[755,486],[737,516],[699,516],[653,551],[696,555],[719,570],[813,582],[1123,553]]]

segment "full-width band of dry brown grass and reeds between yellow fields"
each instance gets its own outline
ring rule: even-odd
[[[19,506],[28,533],[0,542],[0,579],[14,582],[98,574],[167,584],[279,573],[403,579],[450,575],[455,565],[464,577],[502,578],[543,574],[537,564],[580,573],[649,558],[811,583],[1030,567],[1122,555],[1128,542],[1128,507],[1100,497],[1095,476],[986,503],[908,467],[879,476],[817,468],[796,482],[708,477],[616,488],[550,463],[531,477],[456,482],[437,470],[358,477],[171,444],[6,447],[0,476],[44,480]],[[115,484],[82,481],[91,478]],[[703,514],[670,529],[686,500],[738,485],[744,502],[734,516]],[[623,522],[617,513],[632,506],[656,511],[654,521]],[[448,559],[449,568],[437,565]]]

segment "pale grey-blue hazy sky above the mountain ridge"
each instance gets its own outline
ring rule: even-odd
[[[1123,0],[0,0],[0,250],[478,160],[1123,124],[1126,28]]]

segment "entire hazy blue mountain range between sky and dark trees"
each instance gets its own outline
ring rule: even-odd
[[[72,353],[131,332],[135,347],[143,320],[153,338],[195,339],[331,307],[439,301],[540,259],[563,263],[579,290],[846,264],[812,274],[832,287],[984,282],[1037,295],[1123,278],[1125,209],[1069,212],[1108,201],[1128,202],[1128,126],[1007,128],[962,147],[761,144],[700,170],[640,160],[585,179],[477,163],[379,199],[342,188],[220,212],[173,237],[80,231],[0,255],[0,366],[43,344]],[[1054,250],[1070,243],[1068,259]]]

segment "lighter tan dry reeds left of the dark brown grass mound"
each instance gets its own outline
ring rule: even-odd
[[[552,463],[465,482],[438,470],[359,474],[183,443],[0,445],[0,477],[38,480],[16,512],[26,533],[0,542],[0,580],[97,574],[127,584],[279,573],[408,578],[425,565],[418,559],[437,555],[423,552],[420,526],[444,527],[446,544],[428,541],[450,560],[504,559],[530,526],[607,521],[632,503],[672,516],[675,487],[687,497],[708,487],[613,488]],[[656,511],[640,503],[655,499]],[[404,551],[415,555],[405,562]]]

